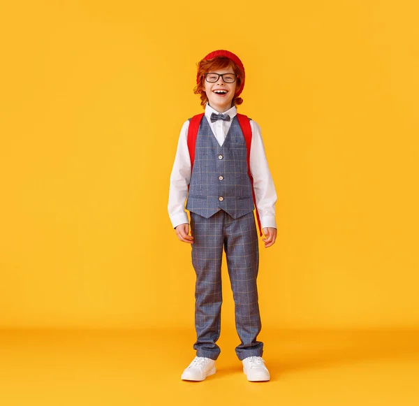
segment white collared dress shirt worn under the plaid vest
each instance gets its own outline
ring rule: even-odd
[[[212,132],[219,145],[223,145],[224,139],[230,129],[233,117],[237,115],[237,108],[233,106],[230,110],[223,112],[230,116],[230,121],[221,119],[211,122],[211,114],[219,112],[214,110],[208,103],[205,106],[205,117],[210,124]],[[203,117],[203,119],[205,119]],[[250,121],[252,139],[250,147],[250,172],[253,177],[253,189],[256,196],[256,208],[260,217],[262,228],[277,228],[275,222],[275,203],[277,202],[277,192],[274,182],[267,165],[265,148],[263,147],[262,136],[260,135],[260,126]],[[191,158],[188,150],[188,129],[189,120],[186,120],[180,131],[179,142],[177,143],[177,152],[170,175],[169,203],[168,212],[172,226],[175,229],[179,224],[189,223],[188,215],[184,210],[186,197],[188,195],[188,184],[191,180]]]

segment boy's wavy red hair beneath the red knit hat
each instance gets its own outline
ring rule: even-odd
[[[244,73],[243,71],[230,59],[227,57],[215,57],[213,59],[203,59],[199,61],[198,64],[198,77],[200,78],[198,85],[193,88],[194,94],[200,94],[201,99],[201,106],[205,108],[205,104],[208,103],[208,97],[204,90],[204,73],[214,72],[218,69],[226,69],[228,66],[233,68],[233,71],[239,77],[236,79],[236,89],[235,92],[237,93],[240,90],[242,82],[244,80]],[[243,103],[243,99],[241,97],[233,97],[232,106],[239,106]]]

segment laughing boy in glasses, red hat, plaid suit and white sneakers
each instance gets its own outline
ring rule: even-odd
[[[184,370],[184,380],[203,381],[216,372],[215,360],[221,351],[216,341],[221,326],[223,249],[235,301],[236,329],[241,340],[235,349],[237,357],[249,381],[270,380],[262,358],[263,342],[256,340],[261,323],[256,286],[258,235],[253,203],[256,200],[256,214],[266,236],[263,238],[265,247],[270,247],[277,237],[274,211],[277,194],[267,166],[260,127],[244,116],[251,128],[250,155],[247,155],[242,121],[239,122],[236,108],[243,102],[239,96],[244,78],[242,61],[226,50],[211,52],[198,63],[194,93],[200,94],[205,115],[199,122],[194,154],[193,151],[189,154],[190,121],[184,122],[170,175],[170,221],[179,240],[191,244],[196,273],[197,340],[193,345],[196,357]],[[186,196],[191,235],[184,211]]]

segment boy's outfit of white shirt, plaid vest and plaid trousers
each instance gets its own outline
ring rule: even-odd
[[[216,110],[205,106],[196,138],[195,159],[186,143],[189,121],[182,126],[170,175],[168,211],[172,226],[188,223],[191,215],[191,256],[196,272],[196,355],[216,359],[221,326],[221,261],[226,252],[235,300],[235,322],[241,343],[235,348],[240,360],[262,356],[258,306],[258,232],[253,216],[253,196],[247,174],[247,147],[235,106],[224,114],[230,121],[211,119]],[[214,117],[214,116],[213,116]],[[251,121],[250,170],[262,227],[274,227],[277,194],[267,166],[260,128]],[[189,185],[189,194],[188,194]]]

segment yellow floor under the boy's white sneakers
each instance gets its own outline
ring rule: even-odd
[[[0,331],[1,406],[419,405],[419,331],[267,331],[270,382],[247,382],[234,331],[217,372],[184,382],[191,331]]]

